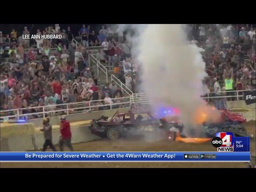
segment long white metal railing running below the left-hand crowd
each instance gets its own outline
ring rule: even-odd
[[[116,102],[117,100],[121,100],[122,102]],[[45,117],[46,115],[54,116],[58,114],[59,112],[64,112],[65,114],[74,114],[79,112],[88,112],[97,110],[98,108],[103,109],[112,109],[112,108],[120,108],[120,107],[128,107],[130,106],[130,97],[122,97],[122,98],[111,98],[110,104],[100,104],[104,102],[104,100],[90,100],[90,101],[84,101],[84,102],[74,102],[74,103],[66,103],[66,104],[54,104],[54,105],[47,105],[47,106],[37,106],[37,107],[30,107],[30,108],[20,108],[20,109],[11,109],[11,110],[3,110],[1,111],[0,119],[9,119],[9,118],[17,118],[20,119],[20,117],[27,117],[27,116],[33,116],[33,115],[41,115],[42,117]],[[54,108],[54,110],[48,110],[48,109]],[[30,110],[35,109],[36,112],[34,113],[25,113],[22,114],[22,110]],[[8,113],[8,112],[14,112],[14,115],[2,115],[2,113]]]

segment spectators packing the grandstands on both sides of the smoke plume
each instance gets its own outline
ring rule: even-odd
[[[202,47],[208,77],[205,83],[215,96],[222,91],[255,89],[255,28],[249,24],[190,24],[188,39]],[[22,34],[30,34],[24,27]],[[1,110],[20,109],[20,114],[64,109],[65,104],[92,101],[93,105],[122,103],[120,88],[111,82],[100,85],[93,68],[88,67],[88,47],[101,46],[96,59],[113,69],[115,76],[133,92],[141,84],[140,64],[131,57],[131,45],[124,31],[112,31],[102,26],[99,32],[82,25],[77,32],[79,46],[72,39],[74,33],[49,26],[37,29],[36,34],[62,34],[62,39],[22,39],[22,34],[12,30],[0,32],[1,63],[8,57],[9,64],[1,65]],[[20,36],[18,36],[20,35]],[[36,50],[34,49],[36,46]],[[55,48],[55,49],[52,49]],[[184,53],[185,54],[185,53]],[[232,95],[232,92],[227,92]],[[116,98],[116,99],[113,99]],[[119,98],[119,99],[118,99]],[[102,102],[93,102],[102,100]],[[116,107],[122,106],[117,104]],[[103,109],[94,108],[95,110]],[[40,115],[34,115],[32,118]]]

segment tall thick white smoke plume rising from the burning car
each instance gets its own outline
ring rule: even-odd
[[[208,91],[202,83],[207,76],[200,53],[204,50],[188,42],[182,24],[128,27],[137,32],[128,40],[133,44],[132,55],[136,53],[142,63],[142,91],[153,108],[179,108],[185,126],[196,124],[195,113],[205,107],[200,96]]]

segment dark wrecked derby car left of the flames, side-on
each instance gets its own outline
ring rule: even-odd
[[[89,129],[92,134],[102,138],[117,139],[126,136],[143,136],[154,132],[163,125],[154,118],[148,106],[132,106],[128,113],[116,112],[111,118],[101,116],[92,120]],[[175,132],[168,133],[174,138]]]

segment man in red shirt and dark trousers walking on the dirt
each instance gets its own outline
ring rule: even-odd
[[[66,120],[65,116],[61,116],[60,118],[60,140],[59,146],[60,151],[63,150],[63,145],[66,144],[70,151],[74,151],[73,146],[71,144],[71,130],[70,123]]]

